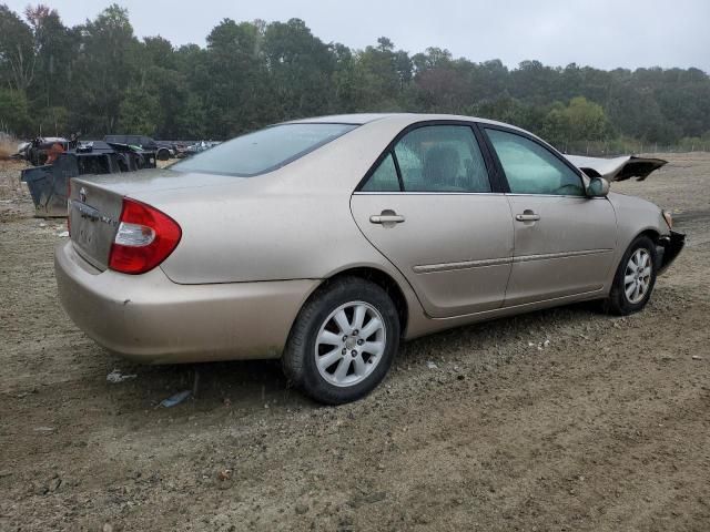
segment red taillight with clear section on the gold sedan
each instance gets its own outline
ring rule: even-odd
[[[168,258],[181,236],[182,231],[173,218],[150,205],[124,197],[109,267],[122,274],[150,272]]]

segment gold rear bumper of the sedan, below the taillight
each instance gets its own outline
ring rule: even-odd
[[[162,269],[99,272],[71,242],[54,253],[62,307],[106,349],[145,364],[278,358],[317,280],[179,285]]]

